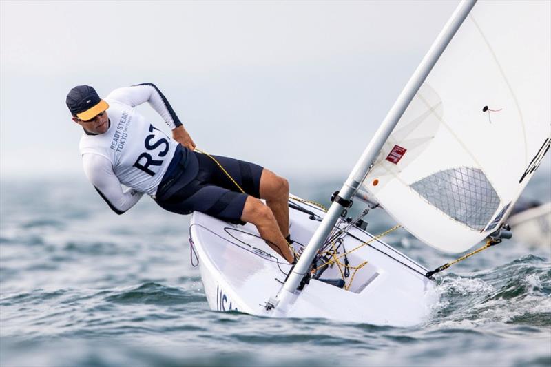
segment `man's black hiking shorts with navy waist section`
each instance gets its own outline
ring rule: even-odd
[[[247,196],[260,198],[263,167],[222,156],[212,156],[235,180],[206,154],[178,145],[160,182],[155,201],[160,207],[178,214],[200,211],[232,223],[242,223],[241,215]]]

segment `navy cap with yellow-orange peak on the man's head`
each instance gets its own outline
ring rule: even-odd
[[[73,116],[83,121],[91,120],[109,108],[90,85],[77,85],[67,94],[67,107]]]

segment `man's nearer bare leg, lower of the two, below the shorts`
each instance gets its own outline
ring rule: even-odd
[[[291,249],[289,249],[289,244],[282,235],[272,210],[263,202],[252,196],[247,197],[241,220],[254,224],[260,236],[267,240],[269,247],[282,255],[289,264],[293,262],[294,257]],[[287,231],[289,231],[289,226],[287,226]]]

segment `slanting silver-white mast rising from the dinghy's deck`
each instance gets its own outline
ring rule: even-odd
[[[446,25],[444,25],[444,29],[441,30],[440,34],[437,36],[437,39],[417,67],[417,70],[415,70],[404,87],[404,90],[402,90],[402,93],[384,118],[383,123],[379,129],[377,129],[377,132],[375,132],[371,142],[357,161],[349,177],[346,179],[346,182],[344,182],[338,194],[341,200],[333,201],[333,204],[329,207],[329,211],[327,211],[326,216],[320,223],[320,227],[315,231],[306,249],[304,249],[304,253],[302,253],[293,271],[289,274],[284,286],[275,298],[271,298],[267,302],[267,310],[271,310],[271,308],[275,307],[276,310],[284,312],[284,308],[291,299],[291,295],[294,294],[300,281],[309,271],[315,254],[324,244],[331,229],[333,229],[333,226],[340,217],[340,213],[345,209],[344,205],[339,202],[344,203],[350,200],[358,187],[360,187],[360,184],[366,177],[375,158],[377,158],[377,154],[379,154],[386,139],[390,136],[399,119],[402,117],[402,114],[404,114],[406,108],[413,100],[413,97],[424,83],[428,73],[433,69],[440,55],[444,52],[448,43],[450,43],[455,32],[457,32],[464,22],[472,7],[475,6],[476,1],[477,0],[462,0],[455,9],[455,12],[453,12],[452,17],[448,20]]]

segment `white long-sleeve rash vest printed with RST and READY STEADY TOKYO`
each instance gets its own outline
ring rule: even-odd
[[[171,129],[182,123],[165,96],[150,83],[118,88],[104,99],[110,106],[110,127],[103,134],[83,134],[79,149],[88,180],[107,205],[122,214],[143,193],[156,193],[178,145],[147,123],[134,107],[148,102]],[[121,184],[129,189],[123,191]]]

